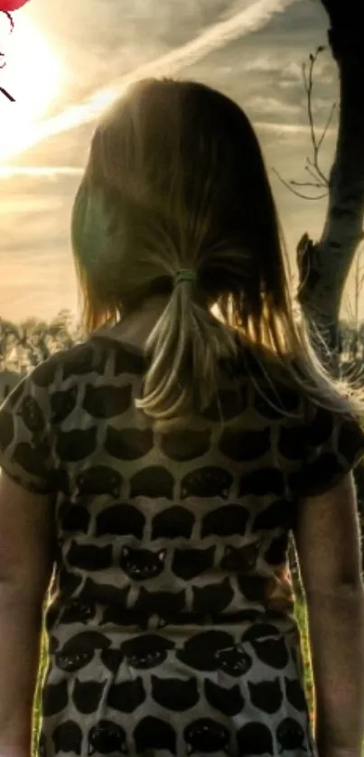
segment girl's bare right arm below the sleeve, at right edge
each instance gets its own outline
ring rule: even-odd
[[[319,755],[360,757],[364,591],[351,473],[301,503],[294,537],[307,601]]]

